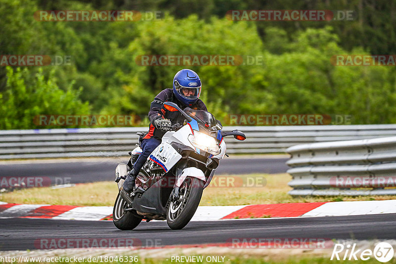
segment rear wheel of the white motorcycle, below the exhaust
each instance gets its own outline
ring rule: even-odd
[[[113,223],[120,230],[132,230],[142,222],[142,218],[134,216],[131,212],[125,212],[128,204],[118,193],[113,207]]]

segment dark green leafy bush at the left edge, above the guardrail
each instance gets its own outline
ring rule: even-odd
[[[17,68],[14,71],[11,67],[6,67],[6,71],[6,88],[0,93],[0,129],[44,128],[33,122],[38,115],[90,113],[88,103],[83,103],[78,98],[81,88],[75,90],[72,88],[73,84],[70,84],[66,91],[58,88],[53,72],[46,79],[41,69],[34,76],[27,68]]]

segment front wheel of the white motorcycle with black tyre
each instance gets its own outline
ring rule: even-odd
[[[172,229],[182,229],[193,218],[202,197],[203,182],[188,176],[179,188],[179,199],[169,204],[166,222]]]

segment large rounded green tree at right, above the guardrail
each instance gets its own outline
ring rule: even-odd
[[[355,124],[394,122],[395,69],[387,66],[335,66],[331,57],[347,54],[332,28],[307,29],[286,46],[266,54],[265,82],[258,83],[247,113],[352,115]],[[364,54],[362,48],[353,54]],[[367,54],[367,53],[366,53]],[[262,92],[259,92],[262,91]],[[261,95],[260,95],[261,94]],[[263,94],[267,108],[260,105]]]

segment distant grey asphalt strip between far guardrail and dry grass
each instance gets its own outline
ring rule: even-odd
[[[287,158],[225,158],[220,161],[216,175],[285,173],[288,170],[285,164],[287,160]],[[114,179],[115,167],[121,162],[127,163],[128,160],[0,164],[0,177],[50,177],[52,184],[106,181]]]

